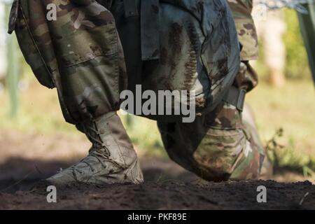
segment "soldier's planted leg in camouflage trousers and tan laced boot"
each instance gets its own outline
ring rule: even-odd
[[[57,6],[57,20],[46,20],[49,3]],[[66,120],[92,142],[87,158],[48,181],[141,183],[137,155],[116,113],[127,75],[109,10],[92,0],[28,0],[15,2],[11,18],[34,73],[57,87]]]

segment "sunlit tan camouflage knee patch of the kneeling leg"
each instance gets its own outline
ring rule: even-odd
[[[227,181],[249,151],[242,130],[209,129],[193,153],[195,172],[209,181]]]

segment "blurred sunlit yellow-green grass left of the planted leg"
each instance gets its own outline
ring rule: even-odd
[[[76,134],[73,125],[64,122],[55,90],[31,80],[28,90],[20,92],[18,116],[11,118],[8,94],[0,94],[0,129],[25,132]]]

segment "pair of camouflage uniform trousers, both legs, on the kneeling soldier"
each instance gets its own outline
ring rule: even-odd
[[[132,89],[134,84],[141,84],[139,68],[152,66],[141,62],[139,23],[126,24],[116,2],[121,1],[113,1],[110,9],[114,15],[104,7],[110,7],[108,1],[104,6],[93,0],[15,0],[13,4],[10,31],[15,29],[20,48],[38,80],[57,87],[64,117],[74,125],[118,110],[119,94],[127,88],[127,73]],[[49,3],[57,6],[56,21],[46,20]],[[253,74],[244,61],[235,85],[250,90],[256,85]],[[201,85],[209,86],[208,79]],[[170,157],[202,178],[258,178],[262,148],[252,141],[234,106],[221,104],[215,113],[198,116],[195,123],[158,121],[158,126]]]

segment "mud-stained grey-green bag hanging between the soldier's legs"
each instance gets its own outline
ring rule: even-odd
[[[147,0],[137,1],[139,12],[146,11],[148,2],[154,3],[150,8],[159,8],[148,19],[142,18],[146,15],[125,18],[121,0],[113,1],[111,7],[125,51],[129,89],[141,84],[143,90],[155,93],[194,90],[192,100],[198,112],[214,109],[239,70],[237,32],[228,4],[221,0]],[[146,19],[160,22],[156,25]],[[149,52],[154,52],[151,57]]]

